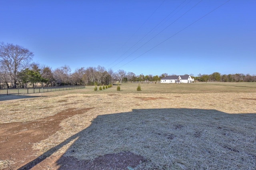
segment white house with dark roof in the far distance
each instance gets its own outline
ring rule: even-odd
[[[190,75],[167,76],[161,78],[161,83],[194,83],[194,78],[192,78]]]

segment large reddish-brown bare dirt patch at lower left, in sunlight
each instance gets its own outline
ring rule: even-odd
[[[84,114],[92,108],[69,108],[54,116],[33,122],[12,122],[0,124],[0,160],[8,160],[14,164],[5,169],[17,169],[34,160],[36,150],[34,143],[44,140],[60,130],[60,122],[76,114]],[[0,167],[1,168],[1,167]]]

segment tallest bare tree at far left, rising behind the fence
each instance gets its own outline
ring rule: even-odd
[[[0,62],[8,73],[12,88],[16,88],[18,73],[29,66],[33,56],[32,52],[22,46],[0,43]]]

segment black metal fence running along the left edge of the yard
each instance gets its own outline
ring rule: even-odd
[[[41,87],[41,88],[8,88],[0,89],[0,95],[22,95],[32,93],[55,92],[61,90],[72,90],[85,88],[85,86],[57,86],[57,87]]]

